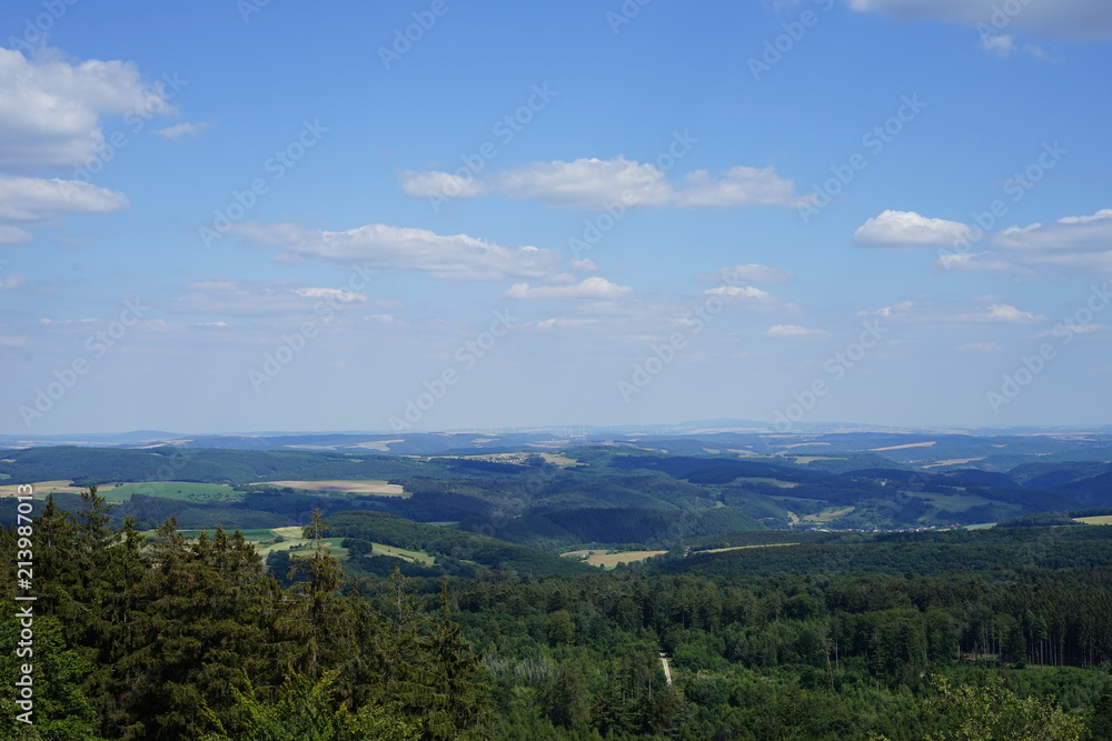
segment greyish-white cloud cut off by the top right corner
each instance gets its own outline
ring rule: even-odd
[[[941,20],[987,28],[993,32],[1022,32],[1070,40],[1112,39],[1112,3],[1105,0],[844,0],[853,10],[874,12],[903,21]],[[1005,6],[1007,10],[1005,10]],[[1016,10],[1011,10],[1011,8]]]

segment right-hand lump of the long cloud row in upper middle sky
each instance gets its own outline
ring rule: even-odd
[[[733,208],[737,206],[797,207],[811,197],[795,194],[795,183],[781,178],[771,167],[758,169],[742,164],[712,178],[706,170],[695,170],[684,178],[685,188],[673,196],[684,209]]]

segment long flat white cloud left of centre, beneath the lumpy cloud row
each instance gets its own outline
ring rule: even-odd
[[[295,224],[241,223],[231,228],[249,241],[281,248],[279,259],[369,263],[373,268],[417,270],[434,278],[483,280],[543,278],[559,256],[536,247],[502,247],[467,234],[368,224],[345,231]]]

